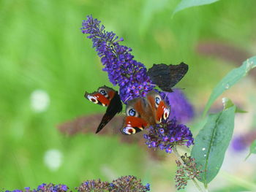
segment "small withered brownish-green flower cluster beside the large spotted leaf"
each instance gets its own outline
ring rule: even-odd
[[[200,171],[196,168],[195,158],[187,156],[187,153],[181,156],[181,161],[176,161],[178,170],[176,171],[176,188],[178,190],[185,188],[189,180],[194,180],[195,178],[200,178]]]

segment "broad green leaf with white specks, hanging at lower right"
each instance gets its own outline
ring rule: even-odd
[[[233,135],[236,106],[222,112],[211,114],[206,125],[195,138],[192,157],[197,168],[203,170],[198,178],[205,186],[219,172],[225,152]]]

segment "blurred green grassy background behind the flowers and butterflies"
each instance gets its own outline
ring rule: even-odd
[[[64,183],[73,189],[83,180],[110,181],[133,174],[151,183],[152,191],[175,191],[173,155],[156,161],[136,143],[120,143],[118,136],[69,137],[56,126],[105,110],[83,98],[84,91],[111,86],[91,40],[80,32],[86,15],[124,37],[122,45],[132,47],[135,59],[148,67],[189,64],[178,87],[185,88],[200,116],[214,85],[246,56],[256,55],[256,1],[222,0],[185,9],[172,18],[177,4],[177,0],[0,0],[0,188]],[[215,54],[214,42],[218,42],[215,52],[224,49],[224,56]],[[249,111],[238,117],[249,130],[255,124],[255,76],[227,96]],[[201,128],[197,120],[189,126],[194,134]],[[235,158],[239,155],[244,162],[244,154]],[[59,166],[48,165],[47,159],[54,157]],[[242,170],[255,166],[244,164]],[[253,173],[241,174],[244,180],[256,180]],[[213,186],[213,191],[251,186],[220,178],[223,185]]]

